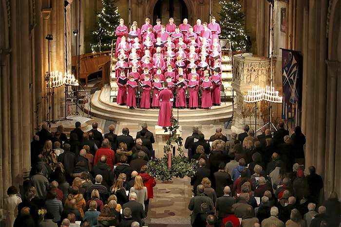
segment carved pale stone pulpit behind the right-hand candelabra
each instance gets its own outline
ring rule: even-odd
[[[276,58],[273,58],[273,78],[275,78]],[[244,96],[252,86],[266,87],[271,84],[271,59],[252,53],[236,54],[233,56],[232,87],[237,96],[237,105],[234,106],[233,123],[231,131],[243,132],[243,127],[248,124],[255,131],[269,121],[269,103],[257,103],[257,126],[255,127],[255,104],[244,103]],[[273,87],[278,87],[273,84]],[[282,90],[282,87],[280,88]]]

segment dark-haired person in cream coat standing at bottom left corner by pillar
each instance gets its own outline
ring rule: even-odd
[[[4,199],[4,210],[6,210],[6,227],[13,227],[14,221],[18,216],[18,205],[21,198],[17,195],[16,187],[11,186],[7,189],[8,197]]]

